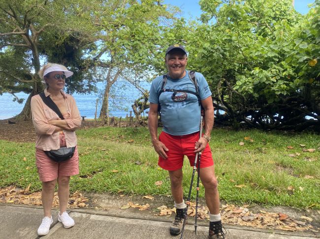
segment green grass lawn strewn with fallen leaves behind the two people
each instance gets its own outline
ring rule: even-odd
[[[170,195],[168,173],[157,165],[158,157],[146,128],[100,127],[79,130],[77,135],[80,174],[72,176],[72,191]],[[253,142],[244,139],[248,136]],[[240,146],[241,141],[245,145]],[[210,146],[220,196],[226,202],[320,209],[320,135],[219,129],[213,130]],[[302,150],[311,148],[316,151]],[[288,156],[295,153],[295,157]],[[0,187],[32,184],[33,191],[41,188],[34,164],[34,143],[0,140],[0,157]],[[187,195],[192,175],[187,160],[183,170]],[[306,179],[306,175],[314,178]],[[156,186],[156,181],[163,184]],[[200,196],[204,196],[202,187]]]

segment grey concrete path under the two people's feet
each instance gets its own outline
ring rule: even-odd
[[[41,223],[43,211],[39,208],[0,205],[0,239],[180,239],[169,234],[170,222],[153,217],[139,216],[139,213],[127,213],[123,216],[108,215],[108,212],[94,209],[72,210],[69,215],[75,226],[65,229],[58,222],[58,211],[53,211],[54,223],[47,236],[38,237],[37,228]],[[162,218],[162,217],[161,217]],[[186,226],[184,239],[207,239],[208,227],[204,223],[197,228]],[[207,224],[207,223],[206,223]],[[230,227],[225,225],[226,239],[311,239],[320,238],[313,232],[281,233],[253,228]]]

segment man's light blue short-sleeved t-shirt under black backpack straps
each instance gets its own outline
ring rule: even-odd
[[[200,100],[211,96],[208,82],[201,73],[195,73],[197,86],[199,87]],[[162,92],[159,97],[163,76],[159,76],[152,81],[149,95],[149,102],[160,104],[161,121],[163,131],[171,135],[186,135],[199,131],[200,110],[198,98],[190,93],[177,93],[172,99],[173,92]],[[190,90],[195,93],[195,86],[189,77],[188,71],[182,79],[171,79],[168,77],[164,89]]]

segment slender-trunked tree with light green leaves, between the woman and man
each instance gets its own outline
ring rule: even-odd
[[[119,78],[127,78],[124,74],[132,69],[151,70],[152,59],[162,41],[163,19],[170,19],[173,14],[161,1],[154,0],[114,0],[95,14],[99,36],[97,49],[88,57],[88,62],[94,63],[100,75],[105,73],[100,117],[106,117],[108,123],[112,85]]]

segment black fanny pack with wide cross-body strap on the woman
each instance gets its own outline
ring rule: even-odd
[[[39,93],[39,96],[41,97],[44,104],[46,104],[53,111],[55,111],[61,119],[64,119],[64,116],[62,115],[60,109],[53,102],[53,100],[51,100],[49,96],[46,97],[44,92]],[[44,151],[44,153],[55,162],[63,162],[68,159],[71,159],[74,154],[74,151],[75,151],[75,147],[70,147],[70,148],[61,147],[60,149],[57,149],[57,150]]]

